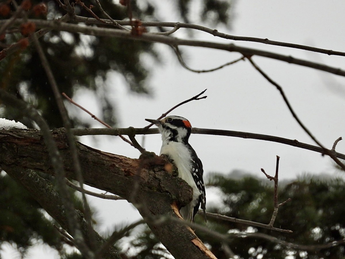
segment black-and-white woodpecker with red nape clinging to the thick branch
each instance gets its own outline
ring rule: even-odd
[[[206,219],[206,194],[203,180],[203,164],[188,143],[191,133],[190,122],[180,116],[168,116],[161,120],[145,119],[155,124],[162,135],[162,147],[160,155],[164,154],[178,169],[178,177],[185,180],[193,189],[193,199],[185,207],[180,209],[183,219],[194,222],[194,216],[199,210],[204,210]]]

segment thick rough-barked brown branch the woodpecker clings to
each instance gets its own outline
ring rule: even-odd
[[[75,180],[65,131],[58,129],[52,134],[63,157],[66,176]],[[191,200],[192,190],[182,179],[166,172],[164,163],[157,156],[146,154],[141,159],[131,159],[95,150],[79,142],[76,145],[85,183],[132,202],[143,218],[148,219],[147,224],[152,232],[176,259],[215,258],[189,227],[169,220],[178,217],[178,208]],[[156,165],[157,162],[160,165]],[[61,226],[67,224],[66,218],[61,216],[59,203],[53,203],[47,197],[39,198],[45,196],[43,186],[25,180],[30,172],[27,169],[53,174],[39,131],[0,130],[0,167],[26,186]],[[41,195],[37,195],[36,189],[42,191]],[[162,216],[166,220],[158,223],[155,219]]]

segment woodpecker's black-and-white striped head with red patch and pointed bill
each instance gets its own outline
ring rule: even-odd
[[[145,119],[146,121],[155,124],[160,133],[162,140],[188,143],[192,126],[188,119],[180,116],[168,116],[163,119]]]

